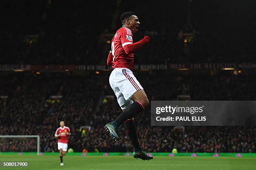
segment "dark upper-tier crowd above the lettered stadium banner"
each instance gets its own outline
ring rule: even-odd
[[[143,63],[256,61],[256,14],[249,3],[192,1],[189,15],[188,0],[164,5],[116,2],[94,1],[91,8],[81,0],[4,1],[3,13],[7,15],[0,28],[0,64],[105,64],[105,53],[110,49],[106,41],[111,38],[104,35],[115,34],[121,26],[120,14],[133,3],[141,21],[134,41],[141,39],[145,30],[155,35],[154,41],[139,51]],[[153,6],[154,13],[148,10]],[[178,38],[181,31],[194,34],[186,47]],[[38,37],[31,39],[31,35]]]

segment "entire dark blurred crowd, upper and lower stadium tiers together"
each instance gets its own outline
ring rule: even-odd
[[[137,64],[253,63],[255,6],[254,0],[4,0],[0,65],[105,65],[109,41],[125,11],[134,11],[141,23],[134,42],[146,30],[154,34],[154,41],[138,51]],[[136,77],[150,101],[177,100],[178,95],[256,100],[255,70],[224,72],[138,71]],[[0,134],[38,134],[42,152],[57,152],[54,132],[64,119],[75,152],[131,151],[123,126],[119,142],[103,128],[121,113],[111,97],[109,74],[0,71],[0,96],[8,96],[0,98]],[[150,106],[135,122],[139,141],[150,152],[171,152],[174,147],[178,152],[256,152],[256,127],[185,127],[181,135],[174,127],[151,127]],[[36,151],[36,140],[0,139],[0,152],[6,151]]]

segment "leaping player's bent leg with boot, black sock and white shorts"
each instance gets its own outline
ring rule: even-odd
[[[115,91],[121,108],[122,104],[119,99],[130,101],[132,97],[132,99],[136,101],[130,104],[127,108],[122,108],[125,109],[125,111],[120,114],[115,121],[105,125],[105,128],[108,132],[110,132],[111,137],[113,137],[115,140],[119,140],[117,133],[120,124],[122,124],[125,120],[134,117],[136,114],[141,112],[141,110],[145,109],[145,107],[148,105],[148,98],[141,84],[137,81],[131,70],[115,69],[114,71],[110,75],[110,86]]]

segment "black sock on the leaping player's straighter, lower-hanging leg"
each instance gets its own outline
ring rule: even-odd
[[[131,140],[134,149],[139,150],[141,146],[138,143],[137,131],[134,122],[124,122],[125,131]]]

